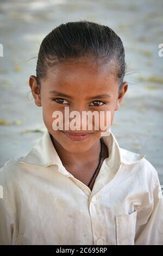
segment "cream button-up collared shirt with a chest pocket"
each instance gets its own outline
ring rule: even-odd
[[[62,165],[48,130],[0,169],[1,245],[163,245],[163,197],[146,159],[102,137],[92,191]]]

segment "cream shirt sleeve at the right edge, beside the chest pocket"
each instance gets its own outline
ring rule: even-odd
[[[135,245],[163,245],[163,196],[158,173],[149,206],[140,211],[140,215],[141,220],[148,218],[145,224],[136,227]]]

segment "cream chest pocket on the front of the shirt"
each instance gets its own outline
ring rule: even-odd
[[[134,245],[137,210],[131,214],[116,215],[117,245]]]

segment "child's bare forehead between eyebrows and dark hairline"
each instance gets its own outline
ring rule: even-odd
[[[111,74],[108,64],[100,65],[96,62],[85,60],[74,62],[58,62],[47,69],[47,76],[43,83],[49,89],[66,91],[76,90],[81,93],[118,90],[116,76]]]

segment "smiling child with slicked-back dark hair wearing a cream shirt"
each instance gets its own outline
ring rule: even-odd
[[[83,117],[80,129],[66,129],[65,117],[54,129],[66,107],[103,112],[104,124],[109,112],[112,124],[124,74],[122,41],[107,26],[68,22],[43,39],[29,86],[47,130],[1,168],[0,244],[163,244],[161,186],[145,155],[120,148],[111,131],[102,136],[94,119],[91,130]]]

